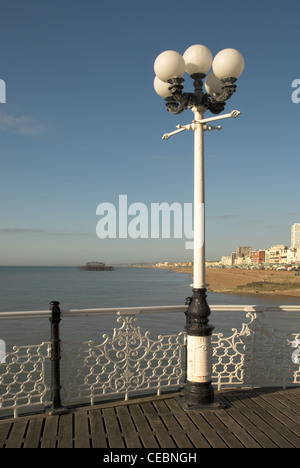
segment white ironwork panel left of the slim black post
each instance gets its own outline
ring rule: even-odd
[[[50,358],[50,343],[14,346],[0,364],[0,410],[45,405],[49,402],[45,363]],[[48,376],[50,377],[50,376]]]

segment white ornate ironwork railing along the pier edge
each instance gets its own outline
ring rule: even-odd
[[[224,387],[286,386],[300,384],[300,330],[280,333],[267,323],[267,312],[299,312],[300,306],[210,306],[214,312],[244,313],[240,329],[214,333],[212,380]],[[94,404],[116,395],[128,399],[135,392],[160,392],[185,383],[184,331],[150,337],[137,324],[139,315],[183,313],[187,306],[73,309],[64,318],[115,316],[116,327],[100,342],[61,343],[61,356],[53,357],[51,341],[15,346],[0,364],[0,416],[21,409],[51,406],[51,366],[60,360],[63,404]],[[50,318],[51,310],[1,312],[0,320]],[[12,326],[16,326],[12,322]],[[182,323],[184,330],[184,319]],[[61,358],[61,359],[60,359]],[[56,389],[57,390],[57,389]]]

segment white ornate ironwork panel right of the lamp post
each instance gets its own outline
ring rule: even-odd
[[[248,322],[232,335],[213,335],[212,379],[228,385],[282,386],[300,383],[300,334],[280,334],[263,313],[248,312]],[[296,349],[293,349],[296,348]]]

